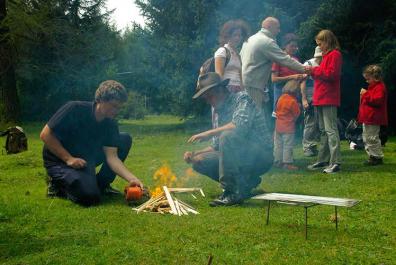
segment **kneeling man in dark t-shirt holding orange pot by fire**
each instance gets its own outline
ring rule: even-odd
[[[110,183],[116,174],[129,185],[143,188],[123,163],[132,138],[120,133],[114,120],[127,97],[123,85],[104,81],[96,90],[95,102],[70,101],[44,126],[40,138],[53,195],[85,206],[96,204],[102,194],[115,192]]]

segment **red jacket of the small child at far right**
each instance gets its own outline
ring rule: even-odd
[[[388,95],[383,82],[370,84],[360,99],[358,121],[368,125],[388,125]]]

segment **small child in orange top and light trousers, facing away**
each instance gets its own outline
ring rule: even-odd
[[[274,133],[274,166],[287,170],[297,170],[293,165],[293,147],[296,120],[300,115],[297,93],[300,82],[290,80],[283,87],[283,94],[276,104],[276,122]]]

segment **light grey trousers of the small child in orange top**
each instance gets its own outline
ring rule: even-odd
[[[294,133],[274,133],[274,162],[293,163]]]

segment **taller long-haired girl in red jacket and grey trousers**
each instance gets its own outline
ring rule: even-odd
[[[312,103],[316,108],[320,130],[320,149],[317,162],[308,169],[326,167],[324,173],[340,170],[340,136],[337,128],[337,108],[340,106],[342,55],[337,37],[330,30],[321,30],[315,37],[323,60],[311,68],[314,79]]]

